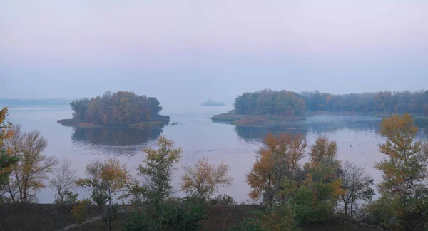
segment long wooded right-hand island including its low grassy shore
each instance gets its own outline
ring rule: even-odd
[[[320,114],[389,116],[412,113],[415,123],[428,123],[428,91],[380,91],[335,95],[320,91],[295,93],[270,89],[243,93],[234,110],[211,120],[235,125],[275,125]]]

